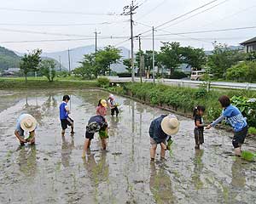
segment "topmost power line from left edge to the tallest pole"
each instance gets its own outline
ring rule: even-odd
[[[46,13],[46,14],[82,14],[82,15],[119,15],[115,13],[84,13],[84,12],[70,12],[60,10],[40,10],[40,9],[25,9],[25,8],[0,8],[0,10],[20,11],[20,12],[32,12],[32,13]]]

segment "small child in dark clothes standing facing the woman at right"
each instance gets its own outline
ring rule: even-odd
[[[195,106],[194,111],[193,111],[193,116],[195,120],[195,129],[194,129],[194,134],[195,134],[195,149],[200,149],[200,144],[204,143],[204,121],[202,116],[204,115],[205,107],[198,105]]]

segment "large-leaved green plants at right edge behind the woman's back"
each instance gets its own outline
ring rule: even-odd
[[[233,96],[232,105],[235,105],[241,114],[247,117],[249,126],[256,127],[256,99],[249,99],[245,96]]]

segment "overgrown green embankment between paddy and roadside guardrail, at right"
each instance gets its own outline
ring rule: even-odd
[[[256,98],[255,91],[222,89],[207,93],[205,88],[180,88],[152,83],[129,83],[123,87],[113,87],[108,90],[139,99],[148,105],[177,111],[186,116],[192,116],[196,105],[204,105],[207,109],[204,117],[207,122],[212,122],[220,116],[221,107],[218,97],[221,95],[225,94],[230,98],[234,95]]]

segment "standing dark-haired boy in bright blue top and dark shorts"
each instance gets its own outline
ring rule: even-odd
[[[61,135],[64,136],[65,130],[67,129],[67,126],[71,127],[71,134],[73,134],[73,119],[71,119],[68,115],[70,114],[70,111],[68,109],[67,103],[70,100],[70,97],[68,95],[64,95],[61,105],[60,105],[60,119],[61,119]]]

